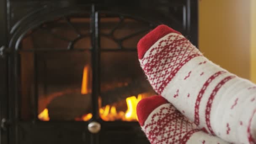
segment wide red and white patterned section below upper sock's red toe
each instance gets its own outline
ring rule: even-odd
[[[181,67],[202,54],[184,36],[170,33],[158,40],[140,59],[152,87],[162,93]]]

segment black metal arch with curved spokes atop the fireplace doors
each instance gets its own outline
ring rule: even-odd
[[[135,9],[134,11],[143,11],[143,10]],[[157,21],[155,19],[146,19],[143,16],[140,16],[139,14],[137,16],[134,16],[133,14],[129,14],[129,13],[125,13],[125,12],[122,13],[120,11],[119,12],[99,11],[99,14],[101,14],[101,13],[104,13],[105,15],[106,14],[112,15],[119,19],[119,21],[117,21],[117,24],[115,25],[115,27],[113,27],[109,33],[101,32],[101,37],[106,37],[106,38],[114,41],[118,45],[117,49],[118,50],[123,49],[124,51],[131,50],[131,48],[128,48],[128,49],[124,48],[124,46],[122,45],[124,40],[127,40],[136,35],[139,35],[143,32],[147,32],[147,31],[149,31],[149,29],[152,29],[153,27],[155,27],[156,24],[162,23],[162,21]],[[29,14],[29,16],[27,16],[24,19],[21,19],[19,22],[17,22],[13,26],[13,28],[11,29],[12,36],[11,36],[11,40],[9,43],[9,47],[13,50],[21,50],[20,49],[21,40],[24,37],[26,37],[27,35],[35,32],[37,29],[41,29],[41,30],[44,30],[45,32],[47,32],[49,35],[52,35],[53,37],[56,37],[58,39],[68,42],[67,48],[65,48],[65,50],[74,50],[75,49],[74,45],[77,41],[79,41],[85,37],[90,37],[90,32],[86,33],[86,34],[81,34],[81,32],[73,25],[72,21],[70,21],[70,19],[72,19],[72,16],[74,16],[76,14],[79,14],[79,15],[86,14],[87,16],[91,16],[91,8],[90,8],[90,6],[87,6],[87,5],[84,7],[69,7],[69,8],[60,8],[60,9],[48,8],[47,6],[45,6],[40,11],[35,11],[34,13]],[[87,17],[87,18],[90,18],[90,17]],[[120,24],[123,23],[124,19],[133,19],[136,21],[142,21],[145,24],[147,23],[146,24],[147,26],[143,27],[142,29],[140,29],[137,32],[131,33],[130,35],[126,35],[124,37],[117,38],[114,36],[114,32],[115,32],[115,30],[118,29]],[[54,23],[59,20],[65,21],[66,24],[68,24],[69,27],[72,28],[73,31],[77,34],[77,37],[75,37],[73,39],[68,39],[64,36],[53,34],[51,32],[51,30],[47,29],[47,23],[49,21]],[[75,50],[84,51],[84,50],[90,50],[90,49],[91,48],[88,48],[88,49],[77,48]],[[53,48],[37,48],[37,49],[33,49],[33,50],[30,49],[27,51],[51,51],[51,50],[54,51]],[[64,49],[58,49],[57,51],[62,51],[62,50],[64,50]],[[103,51],[104,51],[104,49],[103,49]],[[108,51],[108,50],[106,49],[106,51]],[[112,49],[110,49],[109,51],[112,51]]]

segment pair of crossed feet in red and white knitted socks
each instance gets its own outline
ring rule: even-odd
[[[206,59],[181,33],[160,25],[138,43],[161,96],[137,105],[152,144],[256,144],[256,85]]]

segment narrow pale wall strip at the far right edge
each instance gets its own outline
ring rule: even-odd
[[[251,80],[256,83],[256,0],[251,0]]]

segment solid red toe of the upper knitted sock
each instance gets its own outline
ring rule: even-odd
[[[180,34],[180,32],[177,32],[176,30],[162,24],[157,26],[155,29],[153,29],[151,32],[149,32],[147,35],[141,38],[139,40],[139,43],[137,45],[138,48],[138,56],[139,59],[142,59],[144,54],[147,52],[147,50],[157,42],[160,38],[164,37],[165,35],[169,33],[177,33]]]

